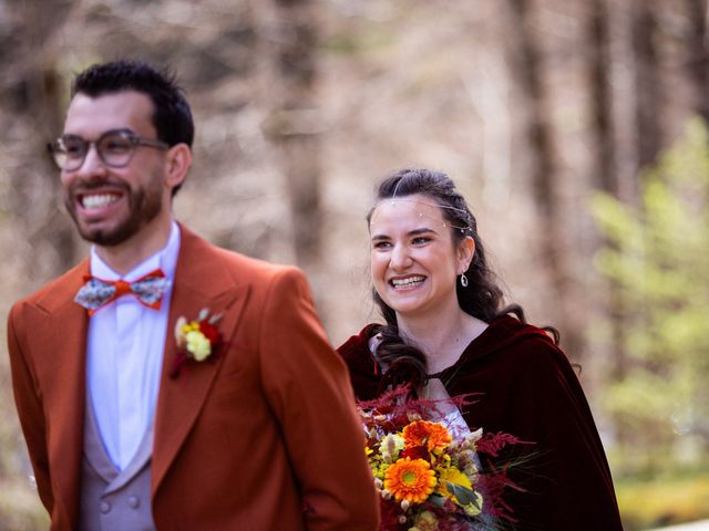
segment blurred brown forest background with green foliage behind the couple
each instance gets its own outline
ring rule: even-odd
[[[333,344],[376,319],[363,221],[453,177],[508,300],[583,366],[628,530],[709,516],[706,0],[0,0],[0,322],[86,247],[44,144],[83,67],[169,65],[175,210],[308,273]],[[3,348],[4,350],[4,348]],[[61,377],[61,375],[58,375]],[[0,529],[45,529],[0,356]]]

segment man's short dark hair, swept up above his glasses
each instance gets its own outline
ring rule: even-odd
[[[71,95],[97,97],[123,91],[136,91],[153,102],[153,126],[157,138],[169,146],[187,144],[192,147],[195,126],[189,104],[174,74],[160,71],[143,61],[119,60],[94,64],[76,75]],[[173,195],[179,186],[173,189]]]

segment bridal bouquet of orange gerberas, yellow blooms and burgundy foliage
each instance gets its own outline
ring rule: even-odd
[[[504,471],[481,470],[479,454],[495,457],[521,441],[434,420],[445,418],[435,414],[441,402],[460,406],[465,397],[407,400],[408,392],[400,387],[359,404],[364,451],[381,496],[381,530],[499,529],[510,509],[502,491],[512,483]]]

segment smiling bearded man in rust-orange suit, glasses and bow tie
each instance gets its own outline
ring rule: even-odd
[[[179,88],[119,61],[72,94],[50,149],[91,257],[8,324],[51,529],[376,529],[352,391],[305,278],[173,218],[194,135]]]

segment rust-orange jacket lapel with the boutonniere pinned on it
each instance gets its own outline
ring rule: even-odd
[[[155,414],[153,496],[197,419],[224,357],[233,354],[225,346],[215,358],[189,362],[176,377],[169,375],[177,353],[174,327],[178,317],[191,321],[206,308],[210,314],[223,315],[217,327],[226,343],[234,334],[248,289],[246,283],[235,282],[219,252],[223,251],[216,250],[181,225],[181,249]]]

